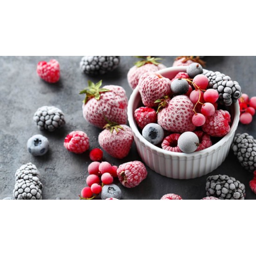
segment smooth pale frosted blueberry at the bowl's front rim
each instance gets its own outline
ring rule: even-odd
[[[199,146],[199,138],[193,132],[184,132],[178,139],[178,147],[184,153],[192,153]]]

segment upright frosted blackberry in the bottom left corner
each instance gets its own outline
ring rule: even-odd
[[[13,197],[18,200],[42,199],[43,184],[39,171],[32,163],[22,165],[15,173]]]

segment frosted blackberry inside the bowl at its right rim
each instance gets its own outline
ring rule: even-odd
[[[218,102],[225,106],[230,106],[236,102],[241,93],[241,87],[237,81],[232,81],[228,75],[221,74],[220,72],[213,72],[204,70],[203,74],[209,79],[209,88],[215,89],[219,94]]]

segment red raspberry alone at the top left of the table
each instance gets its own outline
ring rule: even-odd
[[[36,71],[40,78],[48,83],[56,83],[60,80],[60,64],[56,60],[38,62]]]

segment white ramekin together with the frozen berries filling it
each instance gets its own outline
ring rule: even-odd
[[[142,160],[171,178],[210,173],[229,153],[240,96],[236,81],[198,63],[141,75],[128,121]]]

